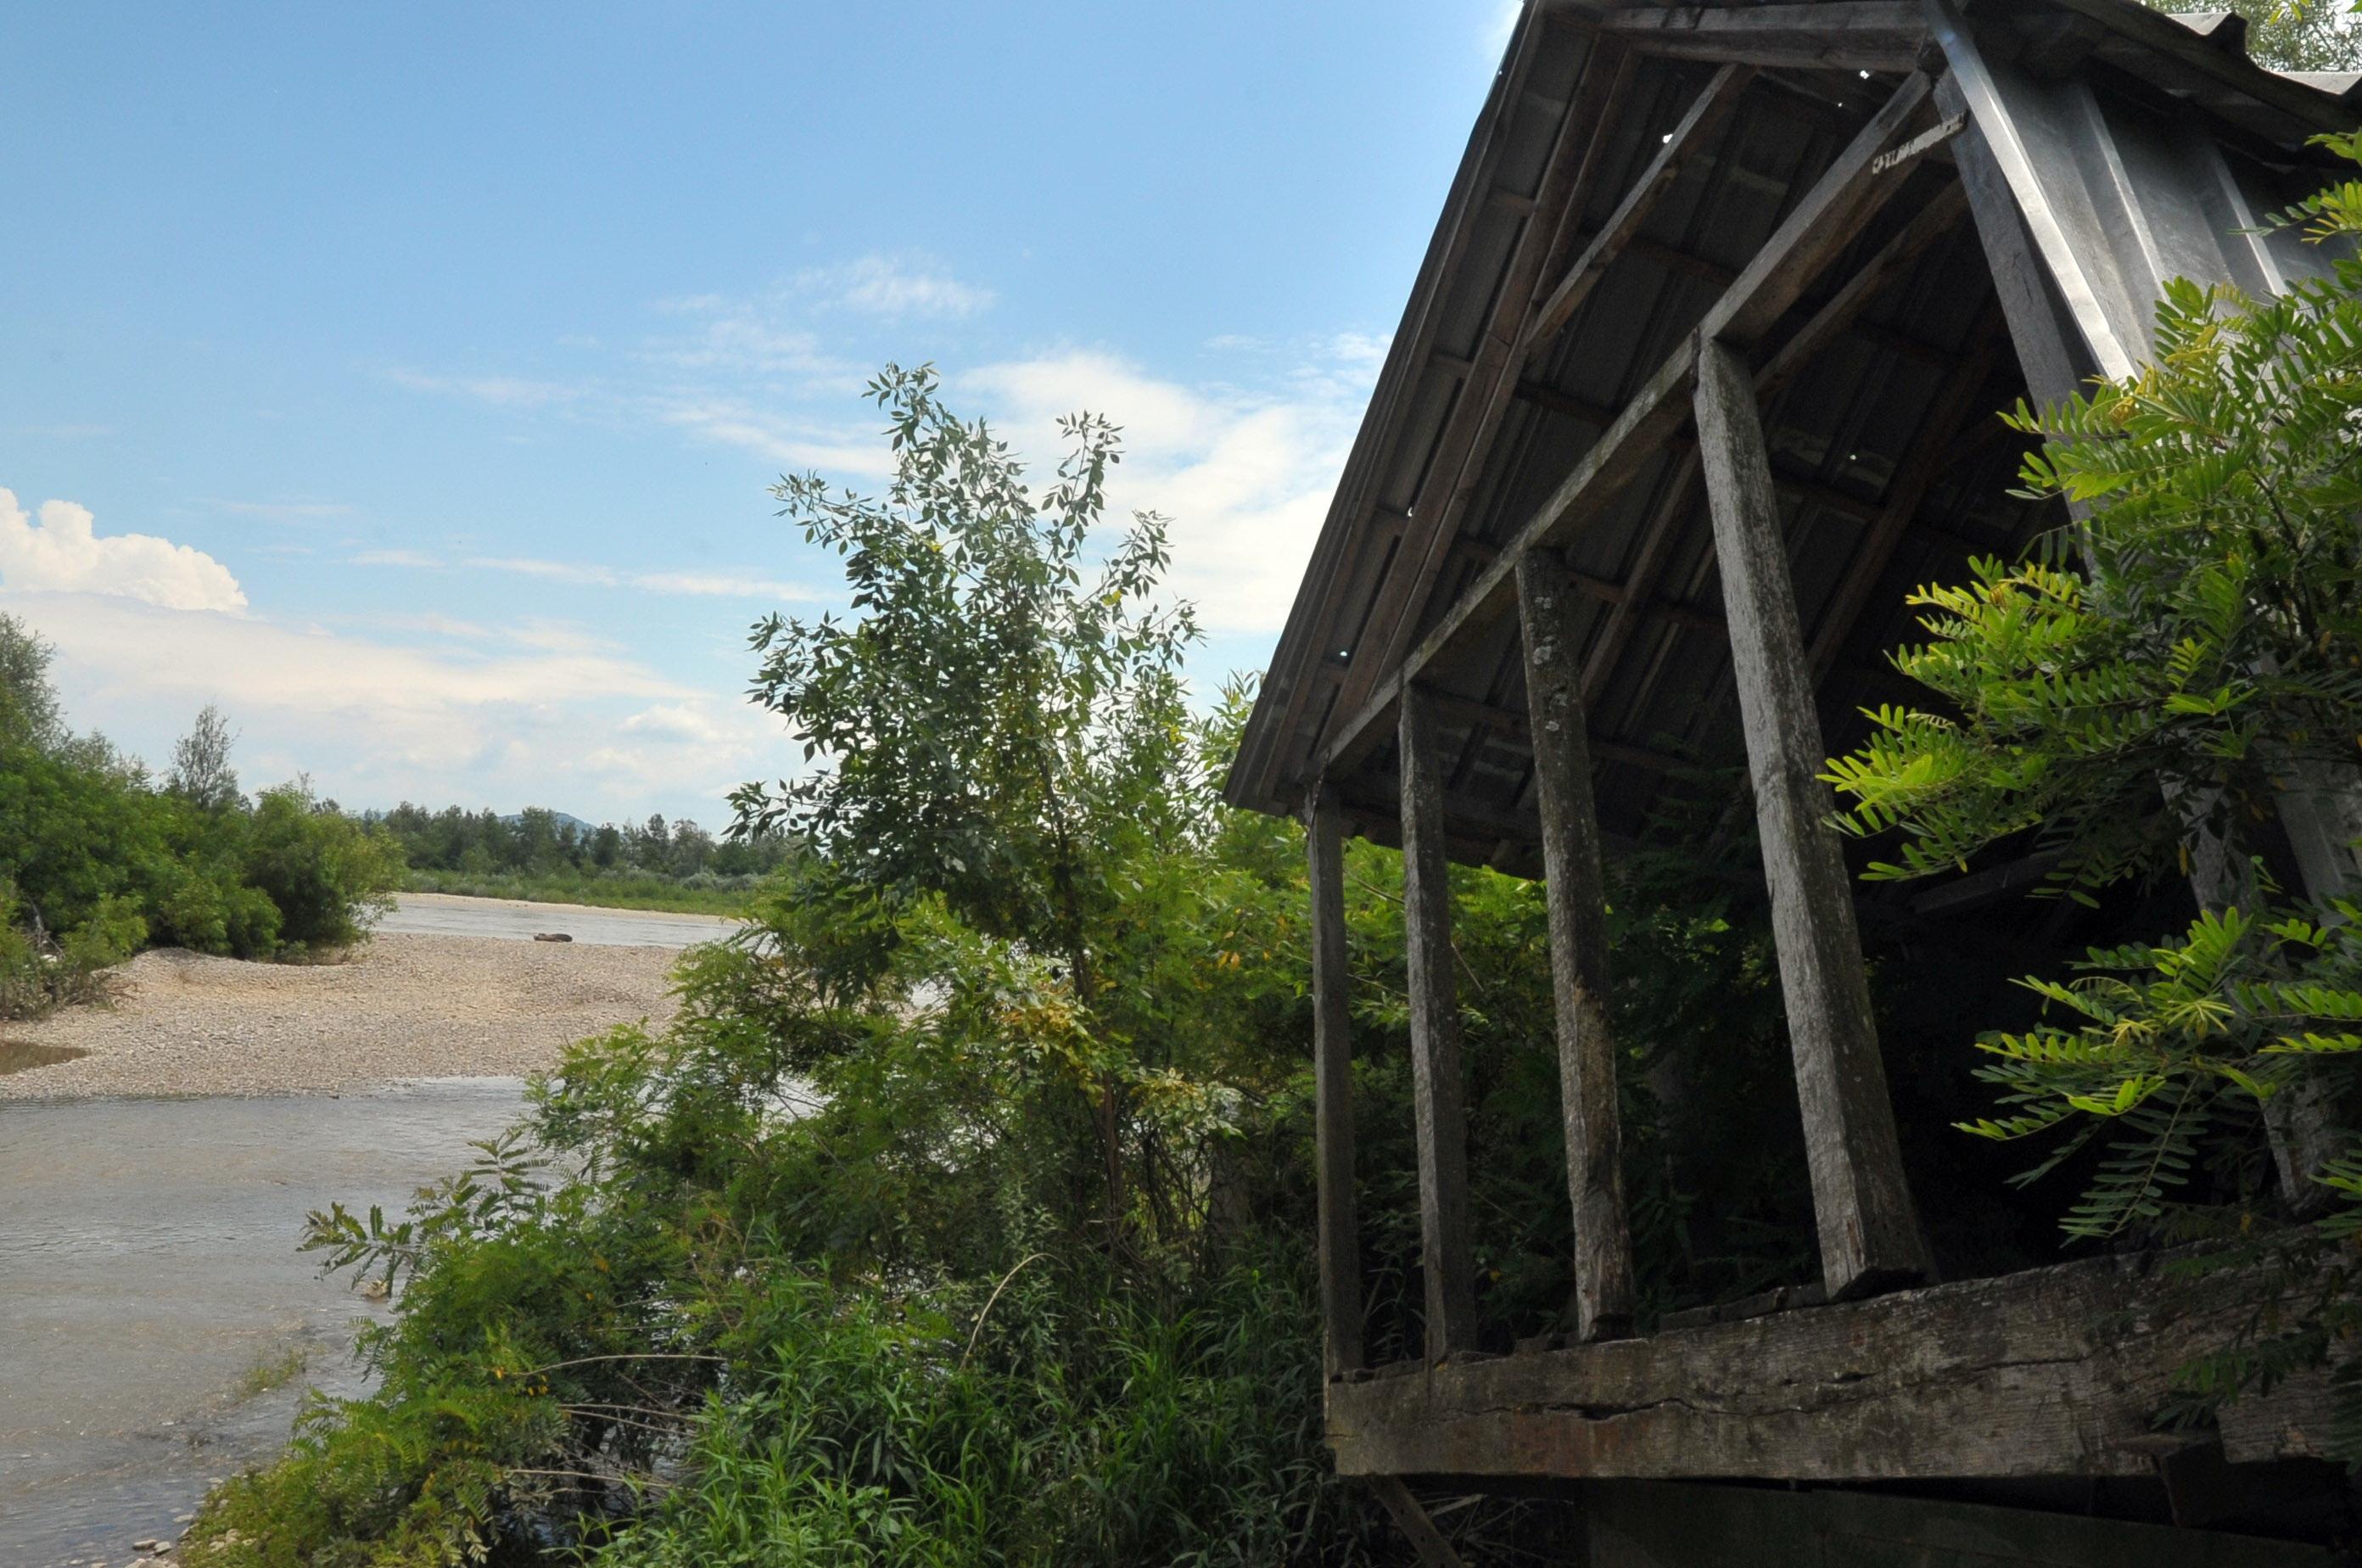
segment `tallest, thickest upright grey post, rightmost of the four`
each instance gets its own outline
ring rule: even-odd
[[[1833,798],[1816,777],[1826,763],[1821,720],[1755,411],[1755,375],[1715,340],[1698,347],[1696,413],[1805,1110],[1821,1278],[1831,1299],[1861,1296],[1925,1280],[1927,1256],[1878,1058],[1854,893],[1823,819]]]

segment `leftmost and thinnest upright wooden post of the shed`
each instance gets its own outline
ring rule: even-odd
[[[1344,822],[1323,786],[1306,812],[1313,893],[1313,1138],[1320,1162],[1320,1327],[1330,1379],[1361,1360],[1361,1226],[1353,1211],[1353,1037],[1344,949]]]

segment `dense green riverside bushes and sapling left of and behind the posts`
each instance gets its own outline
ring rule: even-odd
[[[1153,522],[1084,586],[1113,432],[1072,423],[1035,508],[931,378],[876,394],[888,501],[784,486],[862,619],[758,631],[761,690],[822,770],[742,805],[817,852],[744,935],[685,954],[666,1032],[576,1046],[477,1169],[404,1216],[314,1216],[331,1266],[394,1292],[364,1341],[380,1389],[217,1492],[191,1561],[1391,1549],[1320,1448],[1304,836],[1214,793],[1247,692],[1181,708]],[[1762,893],[1724,874],[1642,862],[1616,900],[1663,1306],[1795,1278],[1809,1237],[1795,1108],[1750,1086],[1786,1082]],[[1365,1278],[1398,1353],[1422,1296],[1401,857],[1353,843],[1346,876]],[[1516,878],[1455,893],[1507,1344],[1564,1327],[1571,1287],[1547,921]],[[1691,1053],[1717,1072],[1658,1115],[1651,1070]]]

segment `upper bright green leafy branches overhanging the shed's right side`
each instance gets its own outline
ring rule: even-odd
[[[2355,763],[2362,264],[2268,302],[2175,281],[2157,345],[2135,378],[2012,418],[2048,437],[2024,494],[2090,508],[2048,550],[2081,564],[1979,560],[1911,595],[1932,642],[1894,664],[1946,708],[1871,711],[1826,775],[1840,827],[1901,834],[1873,876],[2017,834],[2086,900],[2187,871],[2192,834],[2237,867],[2291,772]]]

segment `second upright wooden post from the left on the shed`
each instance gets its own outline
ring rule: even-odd
[[[1460,997],[1453,985],[1453,886],[1443,852],[1443,770],[1427,694],[1401,701],[1403,935],[1410,978],[1410,1089],[1420,1141],[1420,1266],[1427,1275],[1427,1360],[1476,1348],[1476,1261],[1469,1244],[1469,1133],[1460,1082]]]

